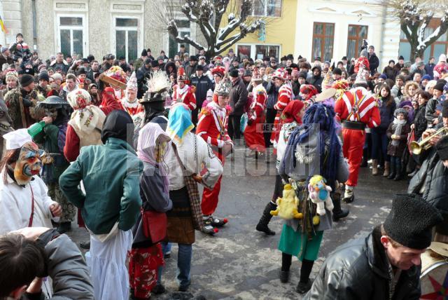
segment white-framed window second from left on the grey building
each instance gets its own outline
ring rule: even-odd
[[[139,55],[139,19],[116,18],[115,38],[116,57],[125,57],[127,62],[136,60]]]

